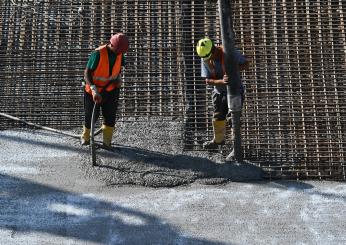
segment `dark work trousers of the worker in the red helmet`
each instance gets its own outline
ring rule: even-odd
[[[114,127],[115,117],[118,109],[120,89],[116,88],[110,92],[102,92],[102,102],[100,104],[103,116],[103,124],[109,127]],[[91,128],[91,117],[94,109],[94,101],[90,94],[84,91],[84,126]],[[99,108],[100,108],[99,107]],[[96,111],[95,122],[100,116],[100,109]]]

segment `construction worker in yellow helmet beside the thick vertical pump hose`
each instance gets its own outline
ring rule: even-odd
[[[224,68],[224,52],[222,46],[215,46],[209,38],[199,40],[196,51],[198,56],[201,57],[201,77],[205,78],[207,85],[214,86],[212,92],[214,138],[204,142],[203,148],[208,150],[217,149],[219,145],[225,143],[226,120],[232,127],[231,113],[229,113],[227,105],[226,86],[229,80]],[[244,55],[236,50],[234,56],[239,64],[239,70],[248,68],[249,62]],[[240,93],[243,103],[244,86],[242,83],[240,85]]]

